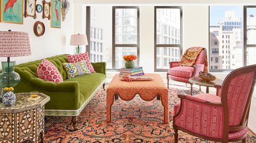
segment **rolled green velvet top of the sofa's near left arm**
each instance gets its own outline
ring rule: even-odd
[[[39,79],[34,75],[30,74],[30,72],[25,71],[22,68],[15,68],[15,72],[20,74],[22,82],[30,85],[33,88],[46,90],[46,91],[78,91],[79,83],[78,82],[47,82],[46,80]],[[18,88],[25,88],[25,85],[17,85]]]

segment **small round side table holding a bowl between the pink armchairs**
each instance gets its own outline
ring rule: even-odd
[[[196,84],[199,86],[206,87],[206,93],[209,93],[209,87],[221,87],[222,83],[223,83],[223,80],[221,80],[221,79],[216,79],[211,82],[206,82],[205,80],[201,79],[200,77],[191,77],[188,81],[191,84]],[[217,95],[218,95],[218,90],[220,90],[220,88],[217,88]],[[192,95],[192,88],[191,88],[191,95]]]

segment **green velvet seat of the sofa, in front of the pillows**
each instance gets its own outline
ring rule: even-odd
[[[83,103],[88,99],[97,87],[105,80],[105,75],[101,73],[92,73],[74,77],[72,79],[64,80],[64,82],[76,81],[79,83],[80,88],[80,103],[78,107],[81,107]]]

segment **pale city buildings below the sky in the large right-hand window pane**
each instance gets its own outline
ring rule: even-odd
[[[242,66],[242,24],[233,10],[210,26],[210,69],[236,69]]]

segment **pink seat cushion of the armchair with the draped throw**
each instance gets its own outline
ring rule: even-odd
[[[175,77],[183,77],[189,79],[194,73],[194,68],[191,66],[176,66],[175,68],[170,68],[168,74]]]

